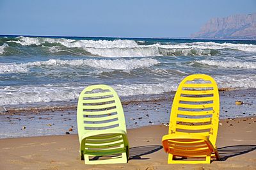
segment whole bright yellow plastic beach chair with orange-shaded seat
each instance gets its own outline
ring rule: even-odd
[[[180,82],[175,94],[168,135],[162,139],[168,164],[210,164],[220,159],[216,144],[220,114],[218,86],[205,74]]]

